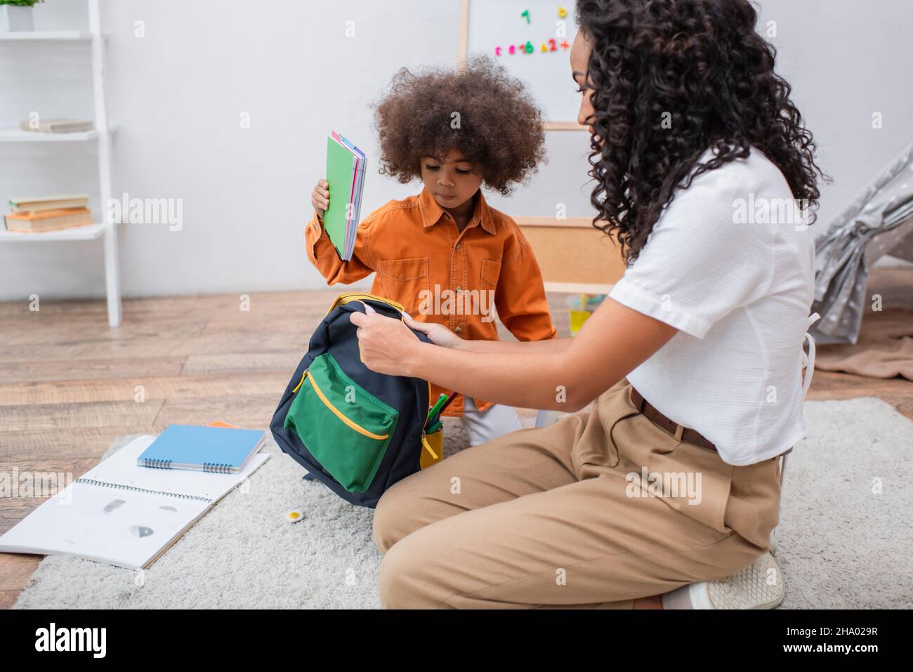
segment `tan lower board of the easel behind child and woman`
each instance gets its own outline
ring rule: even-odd
[[[518,216],[514,221],[536,255],[546,291],[608,294],[624,275],[621,247],[590,217]]]

